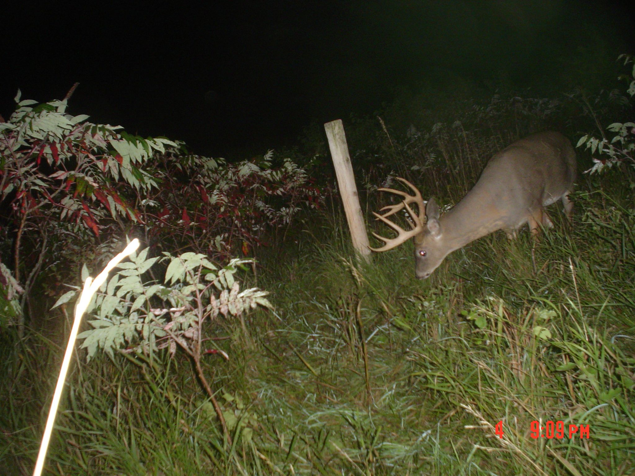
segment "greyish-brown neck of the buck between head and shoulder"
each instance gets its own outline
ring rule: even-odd
[[[439,221],[443,241],[450,251],[500,230],[505,221],[488,190],[472,188],[462,201]]]

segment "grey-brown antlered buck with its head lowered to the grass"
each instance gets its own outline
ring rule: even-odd
[[[568,194],[575,175],[575,152],[569,140],[557,132],[542,132],[518,140],[491,157],[472,190],[440,218],[434,198],[425,205],[417,187],[398,178],[413,190],[413,195],[379,188],[403,197],[403,201],[382,208],[381,212],[387,210],[383,215],[373,212],[398,236],[385,238],[373,233],[385,244],[371,249],[387,251],[414,238],[415,275],[425,279],[452,251],[497,230],[505,230],[507,237],[513,239],[517,230],[528,223],[531,234],[537,237],[541,225],[553,227],[544,207],[558,199],[571,220],[573,203]],[[417,205],[418,214],[411,204]],[[404,208],[413,221],[410,230],[387,219]]]

